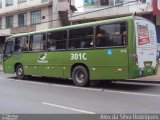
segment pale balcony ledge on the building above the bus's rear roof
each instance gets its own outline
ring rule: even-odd
[[[85,9],[84,9],[85,10]],[[107,6],[107,7],[95,7],[91,10],[85,10],[84,12],[75,12],[71,13],[69,20],[71,22],[80,21],[80,20],[97,20],[100,18],[109,18],[117,16],[131,15],[133,13],[145,14],[151,13],[153,11],[152,3],[140,3],[133,2],[129,4],[121,4],[117,6]]]

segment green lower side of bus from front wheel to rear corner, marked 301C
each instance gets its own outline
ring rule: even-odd
[[[40,59],[43,56],[46,56],[45,59]],[[88,68],[91,80],[128,78],[127,47],[28,53],[24,55],[25,59],[23,63],[27,75],[71,78],[72,65],[83,64]]]

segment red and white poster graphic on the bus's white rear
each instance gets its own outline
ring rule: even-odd
[[[150,43],[148,27],[144,25],[138,25],[138,45]]]

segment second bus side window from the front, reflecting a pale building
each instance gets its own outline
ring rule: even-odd
[[[46,34],[36,34],[31,36],[30,51],[44,51]]]

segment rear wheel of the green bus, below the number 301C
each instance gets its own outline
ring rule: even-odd
[[[77,66],[73,69],[72,79],[77,86],[87,86],[89,83],[88,72],[85,67]]]

